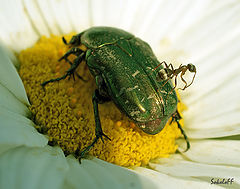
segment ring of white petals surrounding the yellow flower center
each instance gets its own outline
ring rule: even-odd
[[[240,188],[239,18],[237,0],[1,0],[0,188]],[[43,35],[100,25],[147,41],[159,61],[196,65],[181,92],[187,152],[133,169],[97,158],[79,164],[34,128],[15,53]]]

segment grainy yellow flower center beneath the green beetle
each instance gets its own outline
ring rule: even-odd
[[[77,73],[87,82],[76,77],[75,81],[71,78],[50,83],[43,90],[42,82],[66,73],[69,64],[58,59],[67,50],[60,36],[51,36],[41,37],[32,48],[19,54],[19,73],[31,102],[36,128],[49,136],[49,144],[59,145],[66,155],[83,150],[95,137],[92,94],[96,89],[93,76],[82,63]],[[180,112],[184,108],[178,104]],[[99,112],[103,132],[111,141],[99,140],[90,150],[91,155],[121,166],[140,166],[157,157],[168,157],[177,149],[175,139],[181,132],[175,122],[170,125],[171,120],[159,134],[148,135],[112,102],[100,104]],[[180,123],[183,125],[183,120]]]

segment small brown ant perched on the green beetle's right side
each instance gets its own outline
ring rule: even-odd
[[[193,80],[195,78],[196,75],[196,67],[193,64],[187,64],[187,65],[180,65],[177,69],[174,69],[173,65],[170,63],[169,65],[163,61],[161,62],[157,67],[154,68],[154,70],[156,70],[159,66],[161,66],[162,64],[165,65],[164,69],[161,69],[158,72],[157,75],[157,79],[159,79],[160,81],[165,81],[164,84],[162,85],[162,87],[164,87],[164,85],[166,85],[166,83],[175,77],[175,86],[172,88],[172,90],[170,91],[170,93],[172,93],[172,91],[176,88],[177,86],[177,76],[178,74],[181,73],[180,78],[181,80],[185,83],[185,86],[183,88],[179,88],[181,90],[185,90],[187,87],[189,87],[190,85],[192,85]],[[193,79],[191,81],[190,84],[187,84],[187,82],[185,81],[185,79],[183,78],[183,75],[186,73],[186,71],[189,70],[191,73],[194,73]]]

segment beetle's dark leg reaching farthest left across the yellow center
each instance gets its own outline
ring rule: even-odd
[[[53,83],[56,81],[60,81],[62,79],[65,79],[66,77],[70,77],[71,75],[74,74],[75,70],[77,69],[77,67],[79,66],[79,64],[82,62],[83,58],[85,56],[85,53],[81,53],[75,60],[74,63],[71,65],[71,67],[67,70],[67,73],[64,74],[62,77],[58,77],[56,79],[50,79],[48,81],[43,82],[41,85],[42,87],[45,87],[48,83]]]

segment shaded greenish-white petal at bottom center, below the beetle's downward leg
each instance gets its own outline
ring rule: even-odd
[[[149,179],[129,169],[93,158],[82,163],[67,158],[71,171],[67,174],[65,188],[156,188]]]

